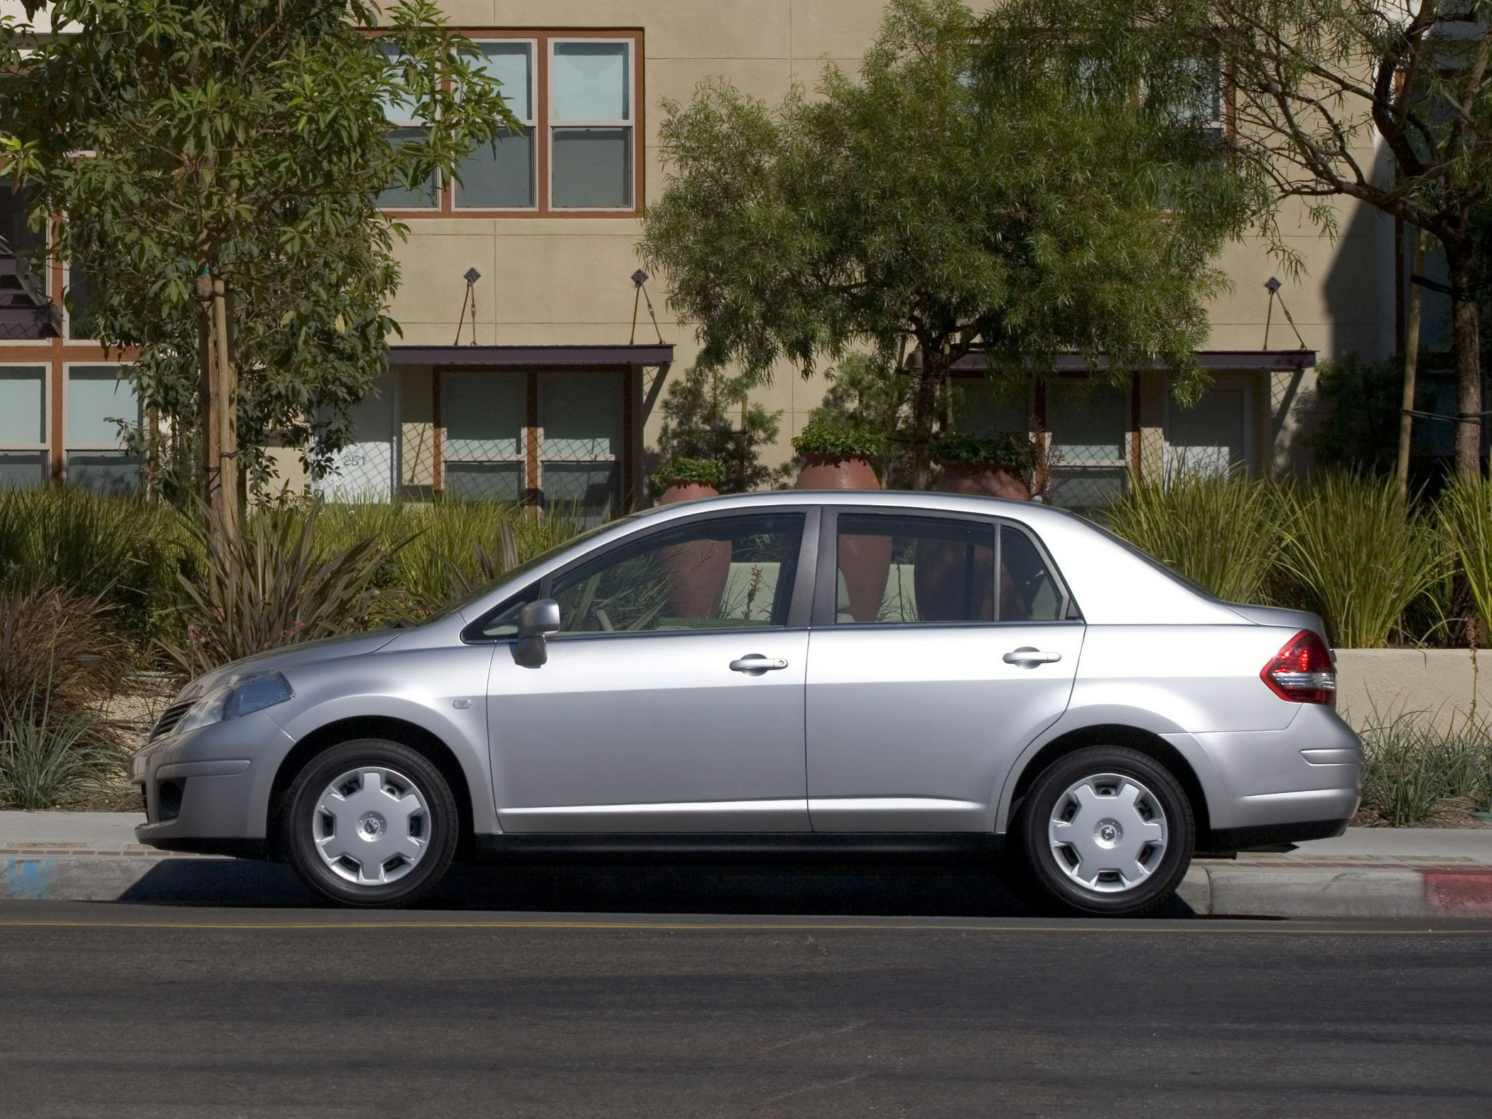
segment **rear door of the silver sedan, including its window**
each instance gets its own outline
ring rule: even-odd
[[[1083,624],[1052,562],[991,518],[825,510],[824,522],[813,830],[991,830],[1006,773],[1067,709],[1077,671]]]

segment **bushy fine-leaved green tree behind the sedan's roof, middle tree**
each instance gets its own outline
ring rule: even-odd
[[[861,345],[894,369],[910,339],[918,486],[938,385],[971,352],[1040,373],[1077,351],[1115,380],[1158,361],[1195,395],[1212,258],[1247,222],[1204,130],[977,57],[961,3],[894,0],[859,78],[828,66],[816,98],[713,82],[665,104],[642,242],[704,364],[807,374]]]

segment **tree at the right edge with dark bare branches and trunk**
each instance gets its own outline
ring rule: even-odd
[[[1304,200],[1332,234],[1332,203],[1350,197],[1432,234],[1452,286],[1456,471],[1480,474],[1476,292],[1488,246],[1477,230],[1492,186],[1492,1],[1015,0],[986,27],[1001,55],[1035,55],[1109,88],[1144,75],[1161,101],[1216,95],[1220,67],[1229,157],[1271,212]],[[1374,166],[1376,140],[1391,167]],[[1264,225],[1283,248],[1276,221]]]

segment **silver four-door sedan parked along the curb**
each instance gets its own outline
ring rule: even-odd
[[[1034,503],[665,506],[419,627],[194,680],[134,758],[167,850],[392,906],[460,856],[967,858],[1153,910],[1195,852],[1334,836],[1361,745],[1320,619]]]

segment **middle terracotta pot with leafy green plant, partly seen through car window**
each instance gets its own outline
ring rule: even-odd
[[[870,460],[882,443],[880,433],[865,424],[815,416],[792,440],[803,457],[798,489],[880,489]],[[837,558],[844,580],[841,612],[856,622],[874,622],[891,574],[891,537],[841,534]]]

